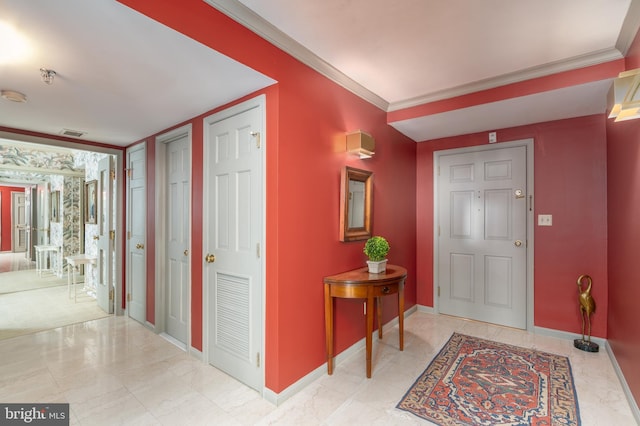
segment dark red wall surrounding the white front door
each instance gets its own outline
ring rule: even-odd
[[[581,332],[576,279],[593,278],[592,334],[607,336],[606,138],[602,115],[503,129],[498,141],[534,139],[534,324]],[[433,152],[482,145],[487,133],[418,144],[417,235],[420,305],[433,306]]]

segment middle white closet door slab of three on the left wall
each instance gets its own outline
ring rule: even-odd
[[[187,343],[190,285],[191,153],[190,134],[166,145],[166,235],[165,332]]]

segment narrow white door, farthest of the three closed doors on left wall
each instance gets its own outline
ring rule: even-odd
[[[147,301],[146,147],[127,151],[127,311],[144,324]]]

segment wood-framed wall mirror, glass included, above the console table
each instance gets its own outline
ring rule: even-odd
[[[373,173],[345,166],[340,177],[340,241],[371,237]]]

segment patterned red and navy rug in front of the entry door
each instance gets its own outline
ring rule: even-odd
[[[580,425],[564,356],[454,333],[398,408],[437,425]]]

